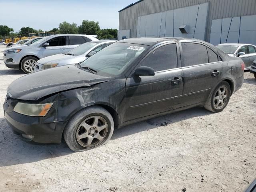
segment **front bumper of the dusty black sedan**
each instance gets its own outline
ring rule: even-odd
[[[47,117],[26,116],[13,111],[17,101],[4,103],[4,116],[14,134],[22,140],[36,143],[60,143],[67,121],[47,120]],[[31,137],[31,138],[28,138]]]

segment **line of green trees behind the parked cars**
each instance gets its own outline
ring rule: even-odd
[[[6,25],[0,25],[0,38],[6,36],[20,36],[28,35],[29,33],[46,32],[42,29],[35,30],[31,27],[22,27],[19,32],[14,33],[12,28]],[[54,34],[86,34],[86,35],[98,35],[100,39],[117,38],[117,29],[100,29],[99,22],[83,20],[80,26],[75,23],[68,23],[66,21],[59,24],[58,28],[53,28],[49,32]]]

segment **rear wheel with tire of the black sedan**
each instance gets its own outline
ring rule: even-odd
[[[211,112],[221,112],[226,108],[230,99],[231,89],[226,81],[220,82],[218,86],[210,93],[204,108]]]

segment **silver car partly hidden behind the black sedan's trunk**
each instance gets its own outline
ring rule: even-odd
[[[256,59],[256,46],[250,44],[224,43],[219,44],[220,50],[229,56],[239,57],[244,61],[244,70],[250,69],[252,62]]]

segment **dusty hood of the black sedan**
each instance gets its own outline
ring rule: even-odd
[[[76,65],[66,65],[33,72],[18,78],[8,86],[11,98],[39,100],[50,94],[109,81],[111,78],[99,76]]]

